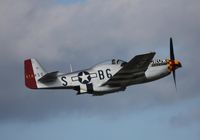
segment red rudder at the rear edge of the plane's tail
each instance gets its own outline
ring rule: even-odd
[[[25,76],[25,85],[30,89],[36,89],[36,81],[35,81],[35,75],[33,72],[33,67],[31,63],[31,59],[24,61],[24,76]]]

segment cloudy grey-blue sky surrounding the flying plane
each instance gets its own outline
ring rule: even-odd
[[[199,0],[0,0],[0,139],[200,139]],[[69,72],[156,51],[183,68],[101,97],[29,90],[23,61]]]

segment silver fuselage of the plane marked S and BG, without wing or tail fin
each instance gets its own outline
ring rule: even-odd
[[[171,72],[168,69],[166,60],[152,61],[144,74],[138,73],[138,76],[129,80],[124,80],[123,85],[110,86],[103,84],[114,76],[123,66],[121,64],[102,63],[94,67],[82,71],[59,74],[54,82],[42,83],[38,82],[38,88],[52,88],[52,89],[75,89],[80,93],[92,93],[96,95],[103,95],[116,91],[125,90],[127,86],[134,84],[141,84],[151,82],[169,75]],[[80,81],[80,73],[87,72],[90,76],[89,81]],[[82,80],[82,79],[81,79]]]

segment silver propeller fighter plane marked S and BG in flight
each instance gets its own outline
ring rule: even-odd
[[[143,84],[173,74],[176,87],[176,69],[182,67],[175,59],[170,38],[170,59],[153,60],[155,52],[136,55],[129,62],[112,59],[89,69],[70,73],[46,72],[36,59],[24,61],[25,85],[30,89],[73,89],[80,94],[101,96],[124,91],[130,85]]]

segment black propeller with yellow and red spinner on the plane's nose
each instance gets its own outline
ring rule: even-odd
[[[170,37],[170,65],[171,65],[171,71],[173,73],[174,84],[176,87],[176,69],[182,67],[182,65],[179,61],[175,60],[173,40],[171,37]]]

